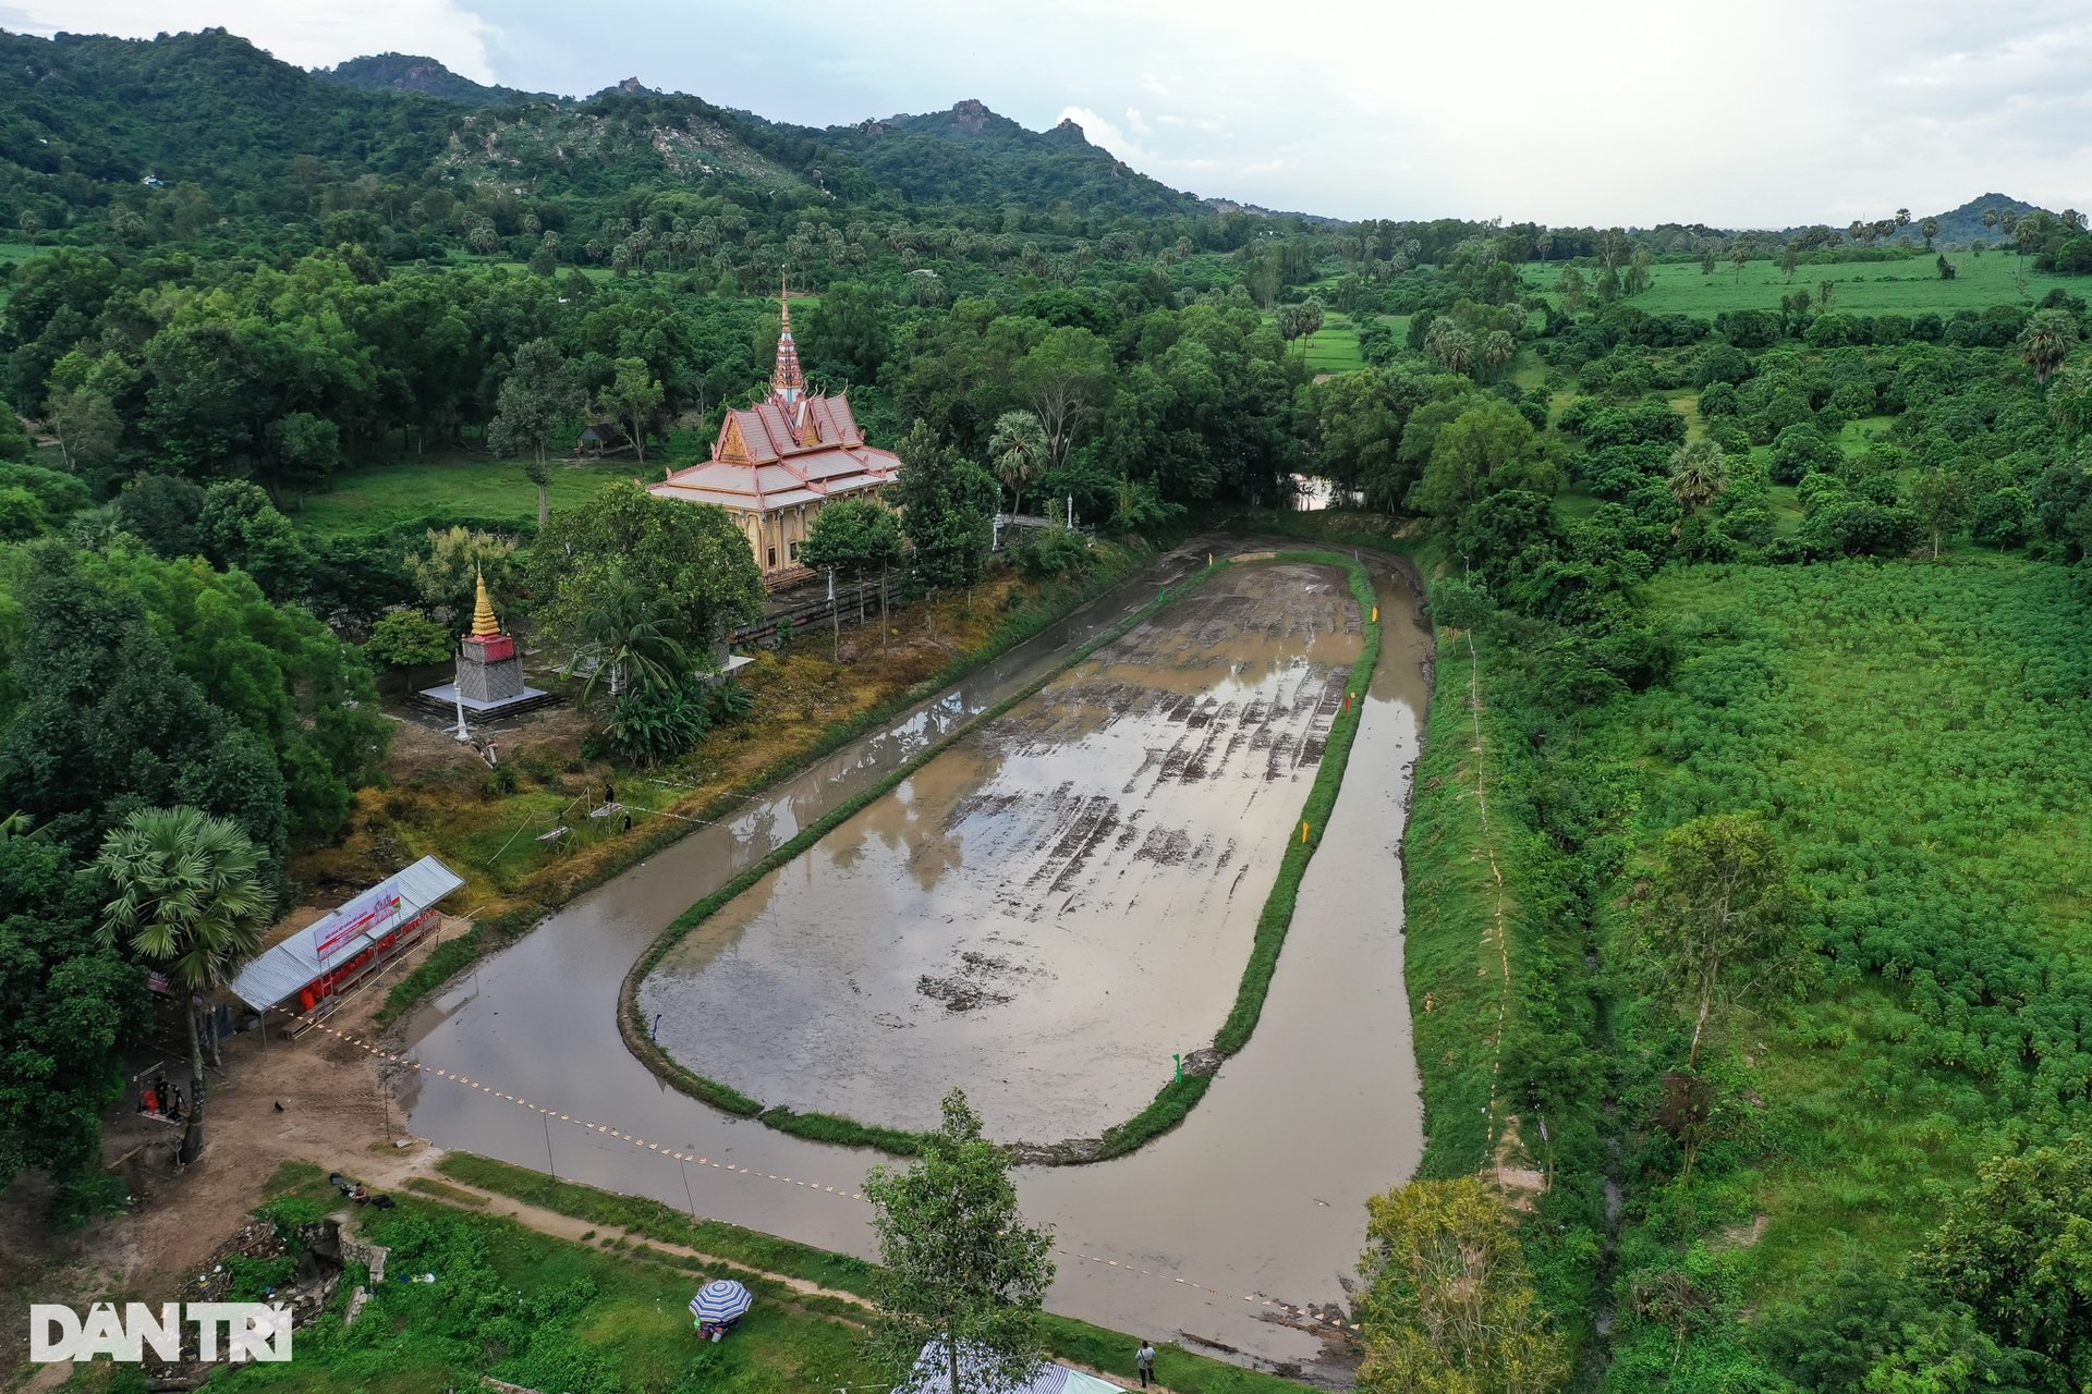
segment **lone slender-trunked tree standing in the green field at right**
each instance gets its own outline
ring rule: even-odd
[[[1692,1020],[1686,1068],[1699,1068],[1707,1022],[1793,963],[1797,895],[1772,832],[1718,813],[1663,834],[1636,917],[1636,961]]]

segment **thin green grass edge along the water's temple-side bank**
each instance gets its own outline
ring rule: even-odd
[[[956,654],[950,663],[946,663],[941,669],[937,669],[923,681],[912,683],[889,698],[872,702],[862,713],[845,721],[831,723],[814,740],[812,746],[787,754],[768,765],[766,769],[759,769],[749,777],[738,780],[732,788],[724,790],[722,794],[699,807],[695,813],[678,813],[676,817],[663,817],[649,823],[644,832],[634,836],[630,844],[623,849],[626,855],[605,859],[605,863],[594,867],[592,874],[573,880],[569,884],[567,895],[561,897],[559,901],[552,901],[548,905],[538,905],[538,903],[517,905],[498,911],[487,920],[473,924],[473,928],[460,934],[458,938],[450,938],[437,945],[427,959],[416,963],[410,974],[406,974],[400,982],[393,984],[391,993],[385,997],[385,1005],[377,1014],[377,1024],[389,1026],[397,1022],[408,1012],[418,1007],[425,999],[439,993],[444,984],[448,984],[452,978],[462,974],[479,959],[506,947],[519,934],[525,934],[527,930],[536,928],[542,920],[546,920],[552,911],[561,909],[563,905],[579,899],[582,895],[594,890],[596,886],[609,882],[611,878],[630,872],[640,861],[653,857],[661,849],[682,840],[699,823],[709,823],[726,817],[728,813],[745,805],[749,798],[761,794],[764,790],[782,780],[791,780],[793,775],[810,769],[818,761],[824,761],[826,757],[835,754],[849,742],[858,740],[879,723],[891,721],[910,706],[933,698],[935,694],[943,692],[946,688],[964,677],[971,677],[973,673],[987,667],[1002,654],[1010,652],[1025,640],[1038,635],[1048,625],[1067,619],[1082,606],[1125,583],[1151,558],[1153,558],[1151,552],[1136,550],[1125,554],[1125,558],[1117,564],[1100,566],[1098,573],[1082,585],[1046,591],[1033,604],[1013,614],[1000,629],[996,629],[996,633],[981,648]]]

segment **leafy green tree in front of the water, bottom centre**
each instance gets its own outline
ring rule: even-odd
[[[935,1342],[952,1394],[1019,1388],[1044,1361],[1040,1304],[1052,1283],[1052,1231],[1027,1225],[1002,1149],[954,1089],[943,1124],[912,1166],[864,1179],[879,1237],[872,1350],[914,1371]],[[908,1375],[904,1375],[904,1381]]]

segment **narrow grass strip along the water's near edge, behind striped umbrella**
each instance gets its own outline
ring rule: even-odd
[[[600,1225],[602,1229],[619,1229],[626,1235],[640,1235],[659,1244],[688,1246],[761,1273],[782,1273],[784,1277],[818,1283],[833,1292],[847,1292],[860,1298],[870,1298],[872,1292],[872,1264],[862,1258],[831,1254],[828,1250],[755,1233],[738,1225],[692,1221],[682,1210],[657,1200],[617,1195],[569,1181],[554,1181],[544,1172],[464,1152],[446,1156],[437,1162],[437,1170],[481,1191],[556,1210],[559,1214]],[[1046,1317],[1046,1346],[1063,1361],[1130,1375],[1132,1352],[1138,1344],[1136,1335],[1094,1327],[1073,1317]],[[1155,1375],[1165,1388],[1180,1394],[1297,1394],[1301,1388],[1276,1375],[1211,1361],[1176,1346],[1157,1346]]]

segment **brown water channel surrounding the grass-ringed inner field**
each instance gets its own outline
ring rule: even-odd
[[[768,790],[720,826],[697,830],[481,963],[408,1022],[406,1049],[431,1070],[483,1083],[487,1091],[410,1076],[404,1103],[414,1131],[437,1145],[550,1168],[803,1244],[870,1254],[870,1212],[849,1195],[881,1158],[774,1133],[667,1089],[617,1037],[619,982],[692,901],[874,782],[881,769],[1036,681],[1056,654],[1109,629],[1146,604],[1157,585],[1203,562],[1205,545],[1197,545],[1197,560],[1186,550],[1159,562],[893,727]],[[1230,539],[1222,550],[1230,548],[1247,543]],[[1324,1384],[1347,1379],[1345,1361],[1318,1335],[1274,1321],[1259,1300],[1343,1304],[1343,1283],[1364,1244],[1366,1195],[1408,1179],[1423,1147],[1402,989],[1400,846],[1431,650],[1429,635],[1412,623],[1406,583],[1379,575],[1377,587],[1387,625],[1381,667],[1343,794],[1310,863],[1249,1047],[1222,1066],[1184,1126],[1142,1152],[1096,1166],[1023,1168],[1017,1177],[1027,1216],[1059,1233],[1052,1310],[1195,1348],[1213,1342],[1215,1350],[1232,1348],[1234,1358],[1299,1367]],[[1276,663],[1255,652],[1264,642],[1249,637],[1251,667]],[[1102,717],[1086,721],[1105,725]],[[1071,727],[1077,738],[1084,729],[1090,727]],[[1282,788],[1291,819],[1305,790]],[[904,834],[889,830],[889,836]],[[891,855],[877,834],[868,840],[879,855]],[[1251,899],[1261,903],[1261,897],[1259,888]],[[1230,991],[1238,970],[1236,955],[1226,966]],[[1209,1032],[1213,1022],[1218,1016],[1201,1018],[1199,1026]],[[665,1020],[661,1030],[667,1037]],[[416,1083],[423,1078],[427,1087]],[[1151,1068],[1142,1097],[1157,1083]],[[937,1087],[941,1081],[925,1083],[925,1091]],[[552,1106],[571,1120],[546,1122],[494,1091]],[[684,1166],[630,1141],[584,1133],[582,1120],[722,1166]],[[1123,1373],[1132,1373],[1130,1354]]]

